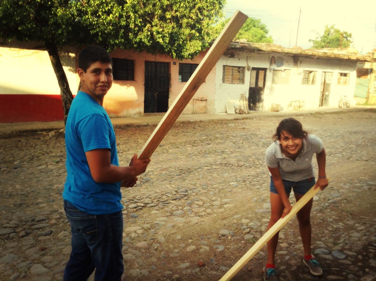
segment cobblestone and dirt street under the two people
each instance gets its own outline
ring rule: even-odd
[[[327,152],[329,187],[314,199],[311,222],[312,252],[328,253],[316,254],[323,276],[310,275],[293,218],[277,248],[279,280],[370,281],[376,278],[376,111],[293,113]],[[138,184],[122,191],[124,280],[218,280],[246,254],[270,216],[264,153],[280,120],[173,126]],[[115,129],[121,165],[153,129]],[[60,280],[70,245],[61,198],[64,134],[3,135],[0,146],[0,280]],[[317,172],[315,159],[314,166]],[[33,229],[41,223],[49,226]],[[9,254],[17,258],[8,261]],[[232,280],[262,280],[265,259],[266,247]],[[33,271],[36,264],[48,271]]]

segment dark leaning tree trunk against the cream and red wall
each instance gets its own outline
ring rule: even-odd
[[[56,78],[58,79],[59,87],[60,87],[60,95],[61,100],[63,102],[63,110],[64,110],[64,124],[67,123],[68,112],[73,100],[72,92],[69,88],[68,79],[65,75],[63,66],[61,65],[58,47],[54,42],[46,42],[45,46],[47,48],[47,52],[50,56],[51,64],[53,70],[55,71]]]

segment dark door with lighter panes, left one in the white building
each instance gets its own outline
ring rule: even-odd
[[[249,110],[262,110],[266,68],[252,68],[248,91]]]

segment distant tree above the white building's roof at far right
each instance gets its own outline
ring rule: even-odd
[[[309,42],[313,43],[313,49],[348,48],[353,43],[353,38],[351,33],[341,31],[332,24],[325,26],[323,35],[318,34],[316,39],[309,39]]]

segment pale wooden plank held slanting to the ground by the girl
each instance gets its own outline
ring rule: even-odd
[[[291,218],[305,205],[311,198],[320,190],[318,187],[317,189],[314,189],[315,186],[313,186],[306,194],[303,195],[298,202],[296,202],[291,208],[290,213],[288,213],[285,217],[279,219],[267,232],[265,232],[264,235],[261,236],[261,238],[255,243],[255,245],[252,246],[246,252],[246,254],[243,255],[243,257],[240,258],[240,260],[237,261],[230,269],[226,272],[225,275],[220,279],[220,281],[227,281],[230,280],[235,274],[251,259],[254,255],[260,251],[262,247],[265,246],[265,244],[270,240],[271,237],[273,237],[282,227],[285,226],[285,224],[291,220]]]

